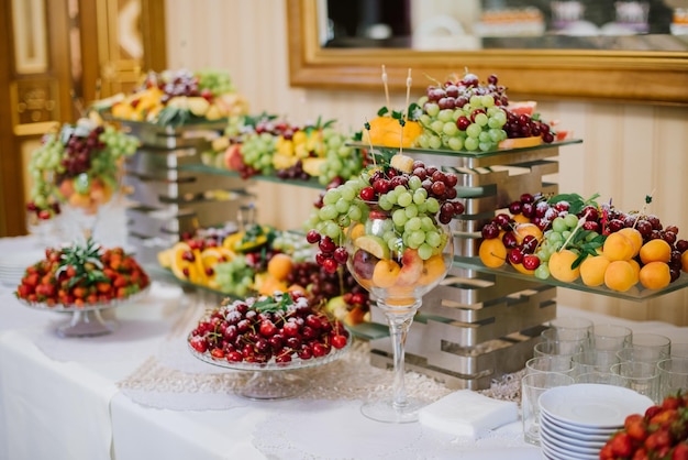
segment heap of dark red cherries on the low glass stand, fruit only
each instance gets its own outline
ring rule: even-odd
[[[191,331],[189,344],[197,352],[229,362],[288,363],[295,357],[322,358],[349,340],[341,321],[298,292],[226,302]]]

